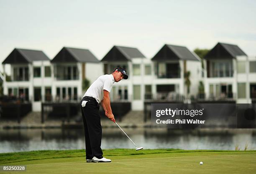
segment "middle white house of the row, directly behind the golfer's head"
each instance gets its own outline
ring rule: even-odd
[[[131,102],[132,110],[142,110],[144,93],[152,83],[152,67],[137,48],[113,46],[102,58],[104,73],[110,74],[116,67],[127,71],[127,80],[115,83],[110,93],[111,101]]]

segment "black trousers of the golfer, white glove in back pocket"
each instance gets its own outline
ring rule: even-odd
[[[85,107],[82,107],[82,101],[87,101]],[[85,151],[86,159],[92,159],[95,156],[98,159],[103,158],[101,149],[102,127],[100,124],[100,106],[92,97],[84,97],[80,102],[82,117],[84,121]]]

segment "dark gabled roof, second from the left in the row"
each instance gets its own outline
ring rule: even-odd
[[[67,62],[88,62],[99,63],[100,61],[93,55],[90,50],[80,48],[63,47],[59,53],[51,60],[52,63]]]

